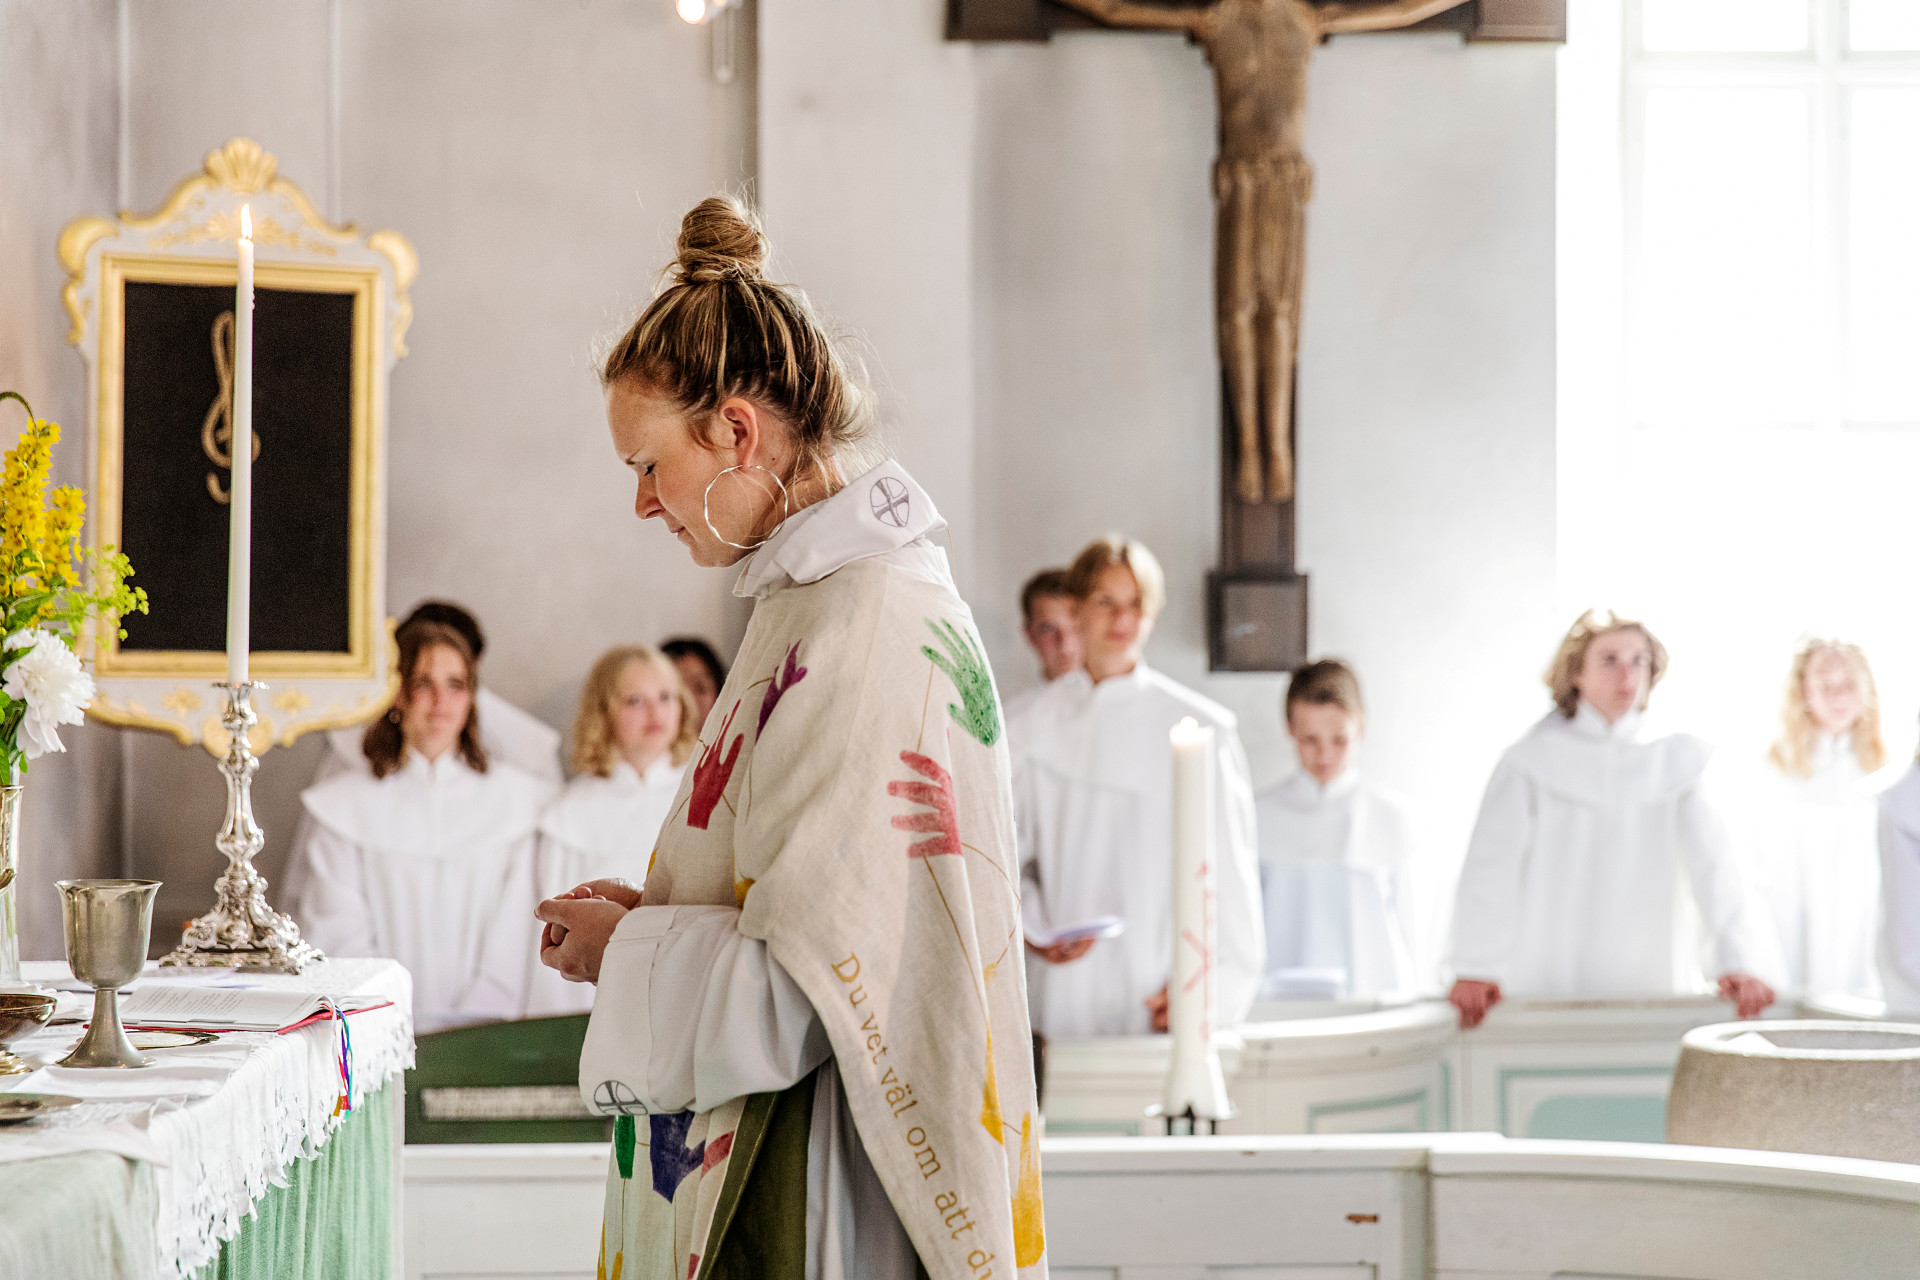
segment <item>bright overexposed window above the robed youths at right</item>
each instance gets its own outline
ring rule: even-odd
[[[1753,758],[1809,633],[1920,710],[1920,0],[1572,0],[1561,601]]]

